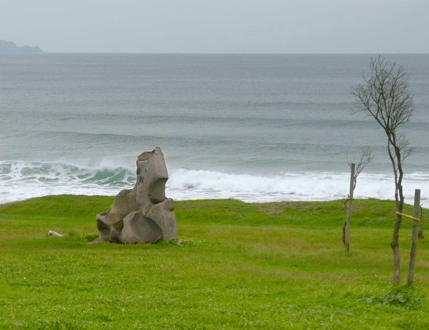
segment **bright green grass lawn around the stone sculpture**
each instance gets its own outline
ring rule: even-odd
[[[346,254],[340,201],[176,202],[179,241],[87,244],[113,199],[0,205],[0,329],[429,329],[428,240],[391,284],[394,202],[353,202]]]

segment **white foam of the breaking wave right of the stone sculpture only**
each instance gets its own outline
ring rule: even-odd
[[[236,198],[245,202],[332,200],[347,196],[350,174],[284,172],[276,176],[256,177],[213,171],[179,169],[168,181],[176,199]],[[421,199],[429,206],[429,173],[405,176],[406,202],[414,200],[414,189],[421,189]],[[355,198],[394,198],[394,181],[390,174],[360,174]]]

